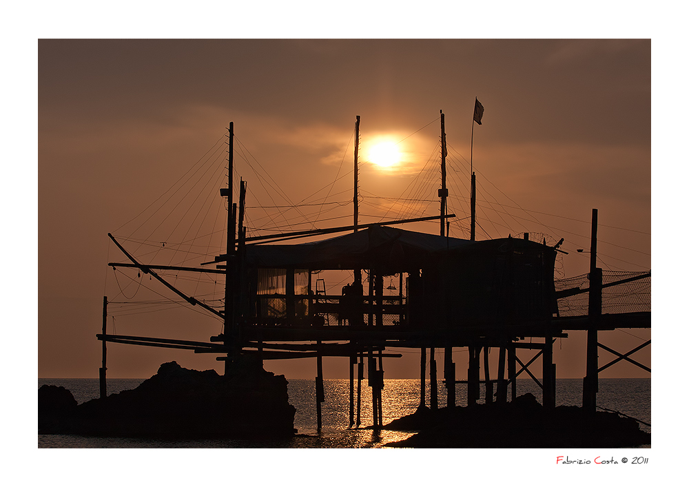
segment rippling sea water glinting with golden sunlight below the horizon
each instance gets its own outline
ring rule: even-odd
[[[143,379],[109,379],[108,394],[136,388]],[[68,388],[79,404],[99,396],[98,379],[39,379],[43,384]],[[380,448],[388,442],[399,441],[412,433],[381,431],[375,433],[366,426],[373,423],[371,389],[362,382],[361,426],[349,428],[349,380],[325,380],[325,403],[322,404],[322,430],[316,428],[316,385],[314,380],[289,380],[289,402],[296,408],[294,439],[273,442],[244,440],[205,440],[169,442],[156,439],[98,438],[77,435],[39,435],[39,448]],[[431,384],[426,383],[426,405]],[[466,384],[457,384],[458,405],[466,404]],[[356,389],[356,383],[355,383]],[[483,391],[483,389],[482,389]],[[517,380],[517,395],[532,393],[541,401],[542,391],[531,379]],[[356,394],[356,393],[355,393]],[[387,379],[382,393],[384,424],[413,413],[419,406],[418,379]],[[442,384],[438,386],[438,404],[446,401]],[[557,405],[581,406],[582,380],[558,379]],[[619,411],[643,422],[650,420],[650,379],[600,379],[597,404]],[[356,395],[355,395],[356,415]],[[650,433],[650,426],[641,424]]]

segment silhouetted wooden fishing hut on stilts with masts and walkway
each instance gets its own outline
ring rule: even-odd
[[[473,121],[480,123],[483,107],[475,101]],[[108,234],[129,262],[110,262],[112,267],[135,267],[160,281],[190,304],[202,307],[223,320],[223,333],[208,342],[172,340],[131,335],[107,334],[107,298],[103,298],[103,330],[96,335],[103,342],[100,369],[101,395],[105,395],[106,342],[163,346],[212,353],[232,370],[242,356],[257,360],[316,358],[316,410],[322,426],[321,405],[325,401],[323,360],[349,358],[349,424],[361,424],[361,387],[367,378],[371,388],[373,427],[383,425],[382,391],[384,359],[402,356],[390,348],[420,350],[420,406],[437,409],[438,367],[436,350],[444,349],[446,406],[455,406],[455,384],[466,383],[467,404],[506,402],[516,397],[516,378],[530,375],[543,390],[543,404],[555,406],[555,364],[553,343],[566,338],[568,331],[586,331],[586,377],[582,404],[595,411],[598,373],[621,360],[642,369],[630,355],[650,344],[650,340],[627,353],[619,353],[598,342],[598,332],[616,328],[650,328],[648,311],[604,313],[607,290],[645,280],[650,271],[603,282],[597,267],[597,209],[593,209],[590,272],[581,282],[560,286],[554,278],[555,258],[564,252],[545,240],[524,238],[475,239],[475,174],[473,173],[473,124],[471,171],[471,237],[449,236],[446,198],[446,140],[444,114],[440,112],[441,183],[438,189],[440,215],[393,220],[375,224],[358,221],[358,149],[360,117],[356,117],[354,145],[353,224],[345,227],[293,231],[266,236],[247,236],[245,209],[247,183],[240,180],[238,204],[233,199],[234,123],[229,124],[229,176],[220,195],[227,198],[227,248],[200,267],[152,265],[138,260]],[[438,235],[393,227],[409,222],[440,220]],[[298,238],[339,234],[333,238],[285,245]],[[564,252],[566,253],[566,252]],[[158,270],[214,273],[225,276],[222,311],[187,296],[159,276]],[[353,282],[342,292],[329,292],[322,271],[351,271]],[[364,279],[364,274],[366,278]],[[399,294],[384,293],[384,280],[399,278]],[[583,284],[582,284],[583,283]],[[365,288],[364,289],[364,284]],[[575,285],[579,284],[579,285]],[[364,292],[365,291],[365,292]],[[403,292],[406,291],[406,292]],[[561,313],[562,300],[588,296],[588,311]],[[331,319],[337,317],[337,320]],[[456,379],[453,349],[467,347],[469,363],[466,381]],[[606,349],[617,359],[599,365],[598,349]],[[489,371],[489,352],[499,353],[496,371]],[[517,351],[535,351],[524,363]],[[481,379],[481,355],[484,378]],[[528,369],[542,358],[542,381]],[[429,364],[430,391],[426,391],[426,363]],[[517,366],[520,368],[517,370]],[[364,373],[365,371],[365,373]],[[365,377],[364,377],[365,376]],[[491,378],[492,377],[492,378]]]

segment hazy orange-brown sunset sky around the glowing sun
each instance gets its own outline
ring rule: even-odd
[[[590,245],[595,207],[599,266],[650,269],[650,46],[616,39],[39,41],[39,377],[97,377],[103,295],[124,300],[106,265],[124,259],[107,232],[129,236],[157,225],[161,214],[141,227],[145,216],[130,220],[208,159],[229,121],[246,151],[235,164],[248,182],[250,232],[287,222],[304,228],[296,211],[267,216],[260,205],[309,203],[300,209],[320,211],[320,227],[351,223],[351,174],[333,181],[351,171],[357,115],[362,156],[378,136],[401,141],[404,152],[393,169],[362,159],[361,222],[438,213],[439,110],[449,145],[449,207],[464,218],[477,96],[485,107],[473,147],[477,238],[524,231],[551,245],[564,238],[570,254],[562,272],[576,276],[588,270],[588,255],[575,250]],[[224,150],[209,158],[218,178]],[[195,190],[212,195],[214,229],[225,217],[211,172],[203,176],[209,185]],[[327,194],[329,205],[316,205]],[[429,201],[387,211],[389,198]],[[438,223],[413,229],[435,234]],[[451,236],[468,238],[466,220],[451,223]],[[198,263],[190,258],[186,265]],[[125,296],[130,292],[134,287]],[[120,334],[196,340],[219,331],[216,320],[193,312],[154,324],[150,318],[123,316],[114,326]],[[650,338],[643,330],[606,333],[605,343],[621,353]],[[557,344],[558,377],[584,375],[583,345],[576,333]],[[635,358],[650,364],[650,351]],[[108,375],[149,377],[169,360],[221,370],[211,356],[112,344]],[[315,363],[296,362],[269,362],[267,369],[315,376]],[[386,375],[416,377],[417,362],[418,355],[389,360]],[[466,351],[458,350],[455,362],[465,375]],[[326,377],[346,373],[345,362],[325,360]],[[646,376],[624,365],[606,373]]]

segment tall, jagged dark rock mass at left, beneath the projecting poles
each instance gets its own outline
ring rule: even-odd
[[[168,362],[131,391],[79,404],[59,420],[54,419],[55,411],[48,403],[39,407],[39,433],[284,438],[294,435],[296,412],[288,402],[285,377],[248,358],[230,375]]]

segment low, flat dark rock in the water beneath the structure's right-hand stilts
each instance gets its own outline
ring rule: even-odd
[[[576,406],[548,411],[528,393],[507,404],[420,408],[384,427],[418,431],[386,446],[407,448],[621,448],[650,444],[650,433],[616,413]]]

